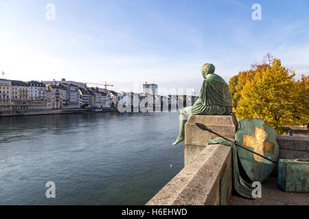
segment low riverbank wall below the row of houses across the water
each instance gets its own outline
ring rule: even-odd
[[[84,114],[95,112],[116,112],[113,108],[106,109],[67,109],[67,110],[12,110],[0,111],[0,117],[5,116],[38,116],[54,114]]]

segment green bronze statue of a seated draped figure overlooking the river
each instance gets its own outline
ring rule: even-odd
[[[204,77],[198,101],[181,110],[179,136],[173,145],[185,140],[185,123],[189,115],[229,115],[232,110],[229,86],[222,77],[214,74],[215,66],[205,64],[202,67]]]

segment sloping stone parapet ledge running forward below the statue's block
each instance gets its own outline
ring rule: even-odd
[[[207,146],[146,205],[220,205],[220,180],[227,171],[227,203],[231,196],[231,148]],[[227,204],[224,203],[224,204]]]

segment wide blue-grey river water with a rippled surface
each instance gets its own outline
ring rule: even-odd
[[[178,115],[0,118],[0,205],[144,205],[183,168]]]

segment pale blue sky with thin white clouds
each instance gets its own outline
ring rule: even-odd
[[[56,20],[47,21],[47,3]],[[253,21],[253,3],[262,20]],[[144,81],[199,91],[211,62],[227,82],[270,52],[309,73],[309,1],[0,0],[0,71],[7,79]]]

